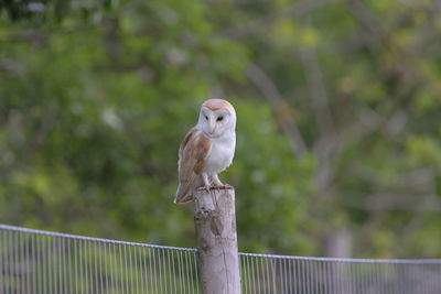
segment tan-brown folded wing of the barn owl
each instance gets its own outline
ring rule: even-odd
[[[193,199],[193,189],[201,181],[205,159],[211,150],[212,142],[197,128],[191,129],[185,135],[179,151],[178,173],[180,186],[174,198],[175,204],[184,204]]]

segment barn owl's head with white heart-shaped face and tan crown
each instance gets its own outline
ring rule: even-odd
[[[236,128],[236,111],[223,99],[206,100],[200,112],[198,126],[209,138],[217,138]]]

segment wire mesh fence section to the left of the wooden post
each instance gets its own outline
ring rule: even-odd
[[[194,249],[0,225],[0,293],[200,293]]]

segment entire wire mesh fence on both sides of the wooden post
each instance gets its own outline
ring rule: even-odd
[[[440,294],[441,260],[239,253],[245,294]],[[0,225],[0,293],[201,293],[197,250]]]

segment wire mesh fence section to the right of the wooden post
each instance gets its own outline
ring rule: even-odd
[[[357,260],[240,253],[244,293],[435,294],[441,260]]]

